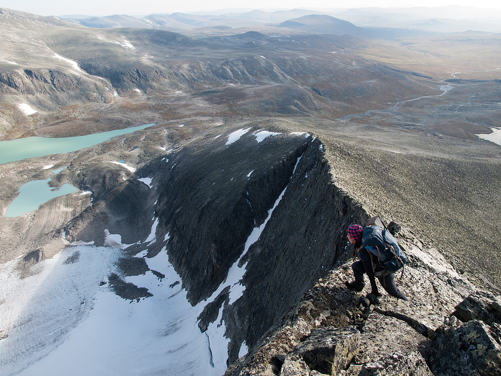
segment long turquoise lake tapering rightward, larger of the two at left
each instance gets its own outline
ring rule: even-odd
[[[15,140],[0,141],[0,164],[34,158],[42,155],[69,153],[86,147],[97,145],[122,134],[132,133],[155,125],[155,123],[138,125],[108,132],[88,134],[76,137],[25,137]]]

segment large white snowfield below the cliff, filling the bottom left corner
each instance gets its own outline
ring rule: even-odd
[[[193,307],[166,250],[146,261],[151,271],[126,277],[153,296],[139,302],[106,283],[122,250],[68,247],[21,278],[20,261],[1,266],[0,362],[13,375],[221,375],[226,369],[224,325],[197,326]],[[173,285],[170,287],[170,285]],[[220,320],[220,317],[219,317]],[[210,347],[209,347],[210,340]]]

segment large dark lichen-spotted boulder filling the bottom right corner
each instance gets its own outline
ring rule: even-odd
[[[435,376],[491,376],[501,370],[499,337],[484,322],[454,316],[437,329],[428,364]]]

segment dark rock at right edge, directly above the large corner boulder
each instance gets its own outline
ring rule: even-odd
[[[487,325],[501,324],[501,297],[488,292],[476,291],[455,308],[454,316],[463,322],[481,320]]]

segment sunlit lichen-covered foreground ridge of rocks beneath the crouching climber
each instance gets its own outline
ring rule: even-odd
[[[349,291],[350,260],[321,278],[225,375],[493,375],[501,297],[479,291],[408,231],[402,301]],[[369,286],[370,289],[370,286]]]

